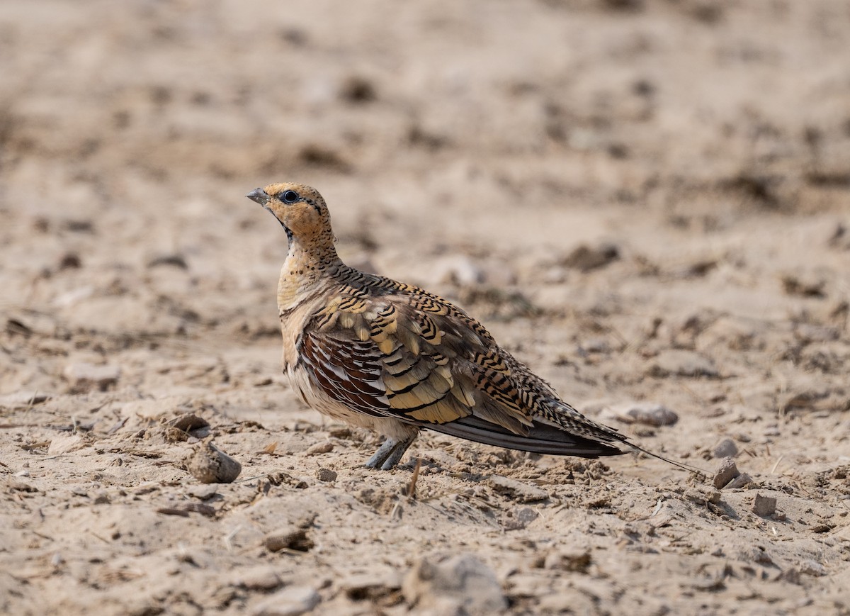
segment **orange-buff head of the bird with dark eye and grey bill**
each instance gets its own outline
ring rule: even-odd
[[[249,192],[247,197],[275,214],[290,240],[309,243],[330,237],[332,243],[325,199],[314,188],[289,182],[269,184]]]

